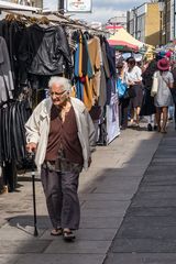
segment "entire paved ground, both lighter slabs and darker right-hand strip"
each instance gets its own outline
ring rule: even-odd
[[[0,196],[0,264],[175,264],[176,138],[128,129],[98,146],[80,176],[80,229],[75,243],[52,237],[36,180],[38,237],[33,237],[31,173]]]

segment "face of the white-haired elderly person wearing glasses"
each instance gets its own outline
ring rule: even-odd
[[[50,94],[55,106],[63,106],[69,97],[68,91],[63,90],[63,87],[58,84],[53,84]]]

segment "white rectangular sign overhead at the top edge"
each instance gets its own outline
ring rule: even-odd
[[[66,0],[67,12],[91,12],[92,0]]]

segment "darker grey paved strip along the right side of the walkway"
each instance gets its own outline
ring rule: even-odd
[[[163,138],[105,264],[176,263],[176,132]]]

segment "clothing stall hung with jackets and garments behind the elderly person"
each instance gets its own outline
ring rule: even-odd
[[[10,183],[8,168],[12,161],[21,164],[26,157],[24,123],[32,109],[47,97],[51,76],[69,78],[75,87],[74,96],[82,100],[90,112],[95,111],[92,120],[95,124],[98,122],[97,129],[106,125],[103,133],[107,140],[103,138],[101,142],[100,132],[97,132],[95,143],[106,145],[120,133],[116,110],[118,99],[114,96],[116,51],[109,45],[105,32],[74,22],[59,13],[26,15],[18,10],[6,10],[3,18],[0,21],[0,44],[3,44],[3,50],[0,51],[2,53],[6,48],[10,86],[7,90],[4,84],[1,89],[4,92],[0,98],[0,118],[3,122],[0,163],[4,184],[13,191],[16,179],[14,176]],[[51,43],[50,48],[46,38]],[[43,52],[44,58],[41,56]],[[109,114],[109,107],[112,107],[113,118]],[[110,128],[111,124],[116,131],[109,135],[107,125]]]

